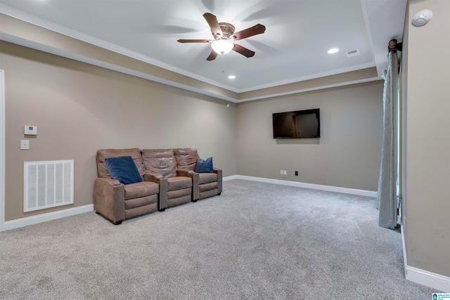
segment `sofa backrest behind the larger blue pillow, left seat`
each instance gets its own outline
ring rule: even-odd
[[[131,148],[131,149],[101,149],[97,151],[96,161],[97,161],[97,176],[100,178],[110,178],[111,175],[105,165],[105,158],[117,157],[117,156],[131,156],[138,168],[139,174],[143,176],[144,166],[143,159],[141,155],[141,149]]]

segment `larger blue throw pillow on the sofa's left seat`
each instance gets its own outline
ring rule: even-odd
[[[110,172],[111,177],[120,181],[122,184],[130,184],[141,182],[141,174],[139,174],[136,164],[134,164],[131,156],[118,156],[105,158],[105,165]]]

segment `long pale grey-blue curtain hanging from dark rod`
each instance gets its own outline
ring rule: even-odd
[[[383,72],[383,149],[381,151],[380,178],[378,180],[378,225],[397,226],[397,110],[399,102],[399,61],[397,53],[387,56],[387,70]]]

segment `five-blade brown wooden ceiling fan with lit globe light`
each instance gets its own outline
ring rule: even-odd
[[[235,28],[230,23],[217,22],[217,17],[212,13],[203,14],[208,25],[210,25],[212,36],[214,40],[209,39],[179,39],[180,43],[211,43],[211,54],[206,60],[214,60],[221,54],[229,53],[231,50],[242,54],[247,58],[251,58],[255,55],[254,51],[249,50],[238,44],[234,44],[233,41],[252,37],[256,34],[262,34],[266,30],[266,27],[261,24],[257,24],[253,27],[241,30],[240,32],[234,32]]]

